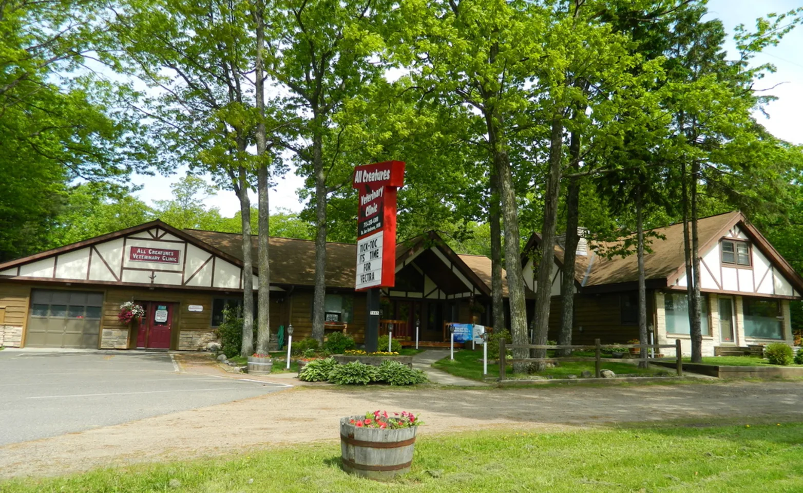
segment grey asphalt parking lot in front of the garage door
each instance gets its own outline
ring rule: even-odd
[[[0,351],[0,446],[283,388],[178,373],[166,352]]]

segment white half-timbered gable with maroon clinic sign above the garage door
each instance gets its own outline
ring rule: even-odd
[[[236,290],[242,278],[238,259],[158,220],[0,265],[0,279],[53,283]]]

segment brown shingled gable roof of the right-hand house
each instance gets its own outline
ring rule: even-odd
[[[764,238],[763,234],[744,217],[740,211],[717,214],[707,218],[699,218],[697,231],[699,235],[700,255],[704,255],[719,239],[728,233],[734,226],[740,226],[752,239],[759,250],[771,259],[786,279],[797,289],[803,289],[803,279],[794,271],[793,267],[779,254],[775,248]],[[685,253],[683,251],[683,223],[673,224],[662,228],[650,230],[665,239],[651,238],[649,243],[651,253],[644,255],[644,271],[650,287],[666,287],[677,282],[685,274]],[[624,238],[614,242],[589,242],[589,255],[577,255],[575,264],[575,280],[586,291],[594,291],[593,287],[611,286],[616,284],[630,284],[638,282],[638,261],[636,255],[625,258],[614,257],[607,259],[597,254],[614,246],[621,245]],[[528,246],[540,243],[540,236],[533,234]],[[526,251],[526,250],[525,250]],[[555,246],[555,260],[562,266],[564,250]],[[523,263],[528,257],[522,256]],[[803,291],[801,291],[803,292]]]

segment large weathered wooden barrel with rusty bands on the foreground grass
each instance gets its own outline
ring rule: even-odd
[[[392,479],[410,472],[418,426],[400,430],[362,428],[349,423],[364,416],[340,419],[343,470],[368,479]]]

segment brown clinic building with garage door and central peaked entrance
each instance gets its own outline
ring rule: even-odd
[[[153,221],[0,264],[0,345],[42,348],[198,350],[216,340],[227,306],[242,304],[242,236],[177,230]],[[256,259],[257,238],[252,238]],[[312,332],[315,244],[271,238],[271,331]],[[362,341],[365,294],[354,291],[357,249],[328,243],[328,331]],[[505,287],[507,290],[507,287]],[[396,287],[382,292],[382,329],[442,341],[447,322],[487,323],[491,261],[456,255],[430,233],[397,246]],[[145,308],[118,320],[120,305]],[[272,337],[275,341],[275,336]]]

